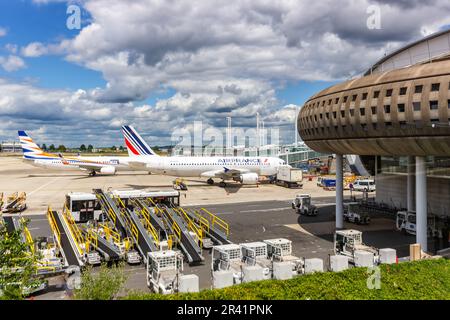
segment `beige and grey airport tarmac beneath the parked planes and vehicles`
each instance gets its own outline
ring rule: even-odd
[[[0,157],[0,192],[27,193],[28,209],[23,213],[30,219],[29,230],[33,237],[51,236],[45,217],[47,206],[61,210],[65,194],[70,191],[90,192],[93,188],[173,190],[174,177],[149,175],[145,172],[119,172],[116,175],[89,177],[85,172],[50,171],[24,163],[19,157]],[[230,240],[234,243],[287,238],[292,241],[293,254],[304,258],[321,258],[328,265],[333,254],[335,192],[325,191],[316,185],[316,180],[303,181],[301,189],[287,189],[273,184],[240,186],[230,183],[228,187],[209,186],[204,179],[186,179],[188,191],[182,191],[181,206],[206,207],[226,220],[230,225]],[[217,181],[218,182],[218,181]],[[316,217],[299,216],[291,208],[296,194],[306,193],[319,208]],[[349,198],[349,191],[344,197]],[[345,223],[345,228],[363,231],[363,241],[377,248],[394,248],[398,256],[409,254],[409,244],[414,236],[405,236],[394,230],[390,216],[371,216],[371,224],[359,226]],[[210,251],[204,250],[202,265],[185,264],[184,273],[195,273],[200,279],[200,288],[211,288]],[[144,265],[127,266],[127,290],[148,292]],[[67,299],[61,277],[50,279],[50,287],[36,299]]]

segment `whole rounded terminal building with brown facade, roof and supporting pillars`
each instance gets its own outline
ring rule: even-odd
[[[376,201],[416,212],[417,242],[427,251],[427,217],[450,217],[450,30],[318,92],[297,127],[310,148],[336,154],[336,228],[343,227],[343,156],[359,155],[375,176]]]

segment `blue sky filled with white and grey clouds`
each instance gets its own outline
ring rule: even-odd
[[[0,140],[110,146],[132,124],[164,145],[259,112],[290,143],[309,96],[449,26],[448,0],[0,1]]]

